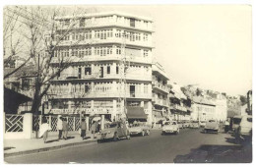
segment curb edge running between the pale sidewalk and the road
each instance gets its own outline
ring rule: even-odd
[[[97,140],[88,140],[88,141],[81,141],[81,142],[74,142],[74,143],[68,143],[68,144],[62,144],[62,145],[57,145],[57,146],[52,146],[52,147],[43,147],[43,148],[37,148],[37,149],[32,149],[32,150],[26,150],[26,151],[18,151],[18,152],[13,152],[13,153],[4,153],[4,157],[11,157],[11,156],[19,156],[19,155],[25,155],[25,154],[32,154],[32,153],[39,153],[43,151],[51,151],[51,150],[56,150],[64,147],[69,147],[69,146],[78,146],[86,143],[94,143]]]

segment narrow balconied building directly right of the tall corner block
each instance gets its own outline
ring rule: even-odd
[[[152,66],[152,101],[153,101],[153,118],[155,123],[165,120],[169,117],[168,110],[168,78],[164,69],[159,63]]]

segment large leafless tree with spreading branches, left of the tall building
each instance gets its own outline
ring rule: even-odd
[[[68,19],[62,19],[67,13],[72,14]],[[83,36],[76,40],[67,40],[70,33],[81,24],[79,16],[85,14],[85,10],[63,7],[21,7],[17,6],[13,14],[22,17],[26,27],[23,32],[27,43],[27,51],[33,64],[37,68],[37,77],[33,86],[32,112],[37,113],[41,100],[50,87],[50,81],[72,65],[73,56],[59,54],[61,47],[69,49],[77,45]],[[61,21],[61,22],[60,22]],[[83,21],[82,21],[83,22]],[[64,26],[59,24],[63,23]],[[77,60],[78,61],[78,60]],[[54,63],[53,63],[54,62]]]

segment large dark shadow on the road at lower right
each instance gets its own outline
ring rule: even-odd
[[[201,145],[190,153],[177,155],[174,163],[251,163],[252,146]]]

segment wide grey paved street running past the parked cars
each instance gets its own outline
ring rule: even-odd
[[[149,137],[62,148],[8,157],[5,161],[8,163],[237,162],[237,159],[231,157],[222,160],[224,155],[230,155],[228,154],[230,151],[232,153],[233,150],[241,151],[241,146],[233,144],[230,140],[231,137],[227,134],[202,134],[200,129],[185,129],[177,136],[161,136],[160,131],[152,131]],[[244,152],[242,154],[244,155]]]

